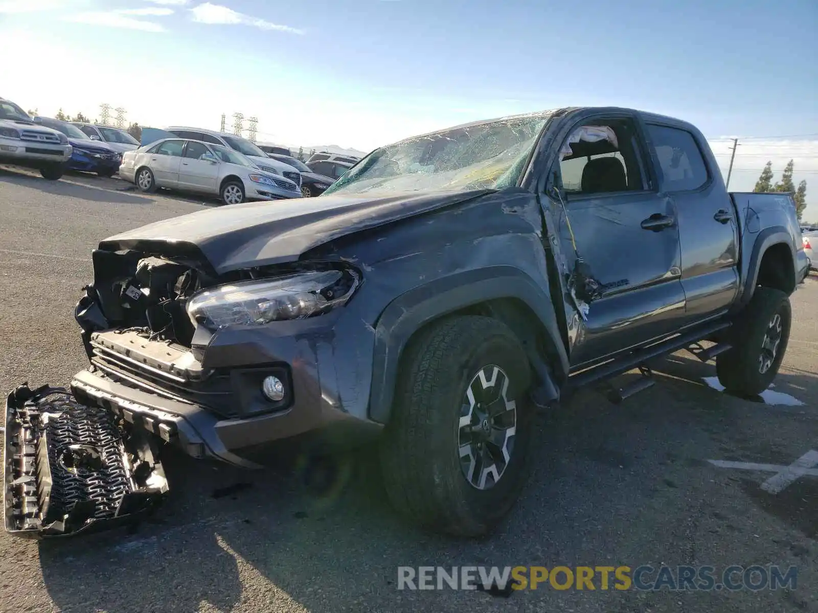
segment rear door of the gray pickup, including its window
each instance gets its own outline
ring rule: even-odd
[[[648,123],[647,135],[662,189],[679,219],[683,324],[724,313],[739,290],[738,225],[735,210],[708,168],[704,137],[685,125]]]

